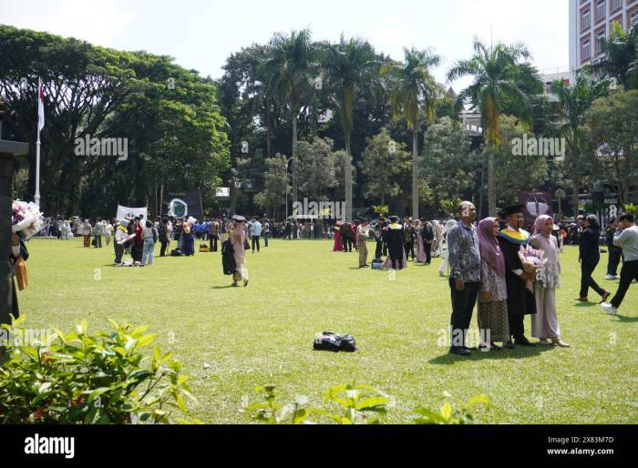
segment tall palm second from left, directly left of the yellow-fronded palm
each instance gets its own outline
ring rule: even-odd
[[[353,130],[353,108],[359,93],[373,98],[379,66],[375,49],[368,42],[344,36],[337,44],[324,47],[322,64],[327,86],[334,92],[337,110],[345,141],[345,218],[352,219],[352,152],[350,136]]]

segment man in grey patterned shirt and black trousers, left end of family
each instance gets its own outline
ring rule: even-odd
[[[448,232],[448,282],[452,298],[449,352],[468,356],[474,349],[466,346],[466,337],[480,287],[478,234],[473,224],[477,209],[472,202],[464,201],[458,206],[458,214],[457,225]]]

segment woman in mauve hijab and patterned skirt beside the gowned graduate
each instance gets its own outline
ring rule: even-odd
[[[508,287],[505,282],[505,259],[497,239],[499,229],[499,219],[496,218],[486,218],[478,223],[478,330],[482,341],[481,348],[497,351],[500,347],[494,344],[494,341],[509,341]]]

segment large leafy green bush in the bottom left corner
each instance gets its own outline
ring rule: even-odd
[[[83,320],[38,341],[22,339],[24,320],[0,328],[1,423],[168,423],[169,408],[185,414],[184,399],[194,401],[171,352],[144,352],[155,340],[146,326],[109,320],[112,331],[89,334]]]

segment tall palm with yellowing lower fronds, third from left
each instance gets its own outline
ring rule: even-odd
[[[390,107],[395,119],[405,118],[412,130],[412,218],[418,218],[418,131],[421,117],[432,122],[436,117],[437,101],[445,89],[430,74],[431,66],[438,66],[441,58],[427,50],[404,48],[401,64],[388,64],[381,69],[391,79]]]

